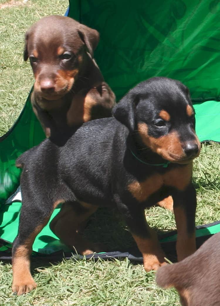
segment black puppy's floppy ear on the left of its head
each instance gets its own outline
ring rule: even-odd
[[[133,131],[135,128],[135,113],[138,102],[138,95],[128,92],[112,111],[113,116],[127,126],[130,131]]]

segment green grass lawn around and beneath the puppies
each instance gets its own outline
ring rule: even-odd
[[[63,15],[67,6],[67,0],[0,0],[0,135],[13,125],[33,84],[30,65],[23,62],[25,31],[40,17]],[[220,146],[215,143],[203,145],[200,157],[194,162],[193,173],[198,199],[197,225],[220,220],[219,168]],[[171,211],[152,207],[146,211],[146,217],[150,226],[158,231],[175,229]],[[117,212],[99,211],[89,222],[86,233],[110,248],[134,243]],[[95,262],[75,258],[59,263],[32,262],[38,288],[20,297],[11,292],[11,264],[0,263],[0,306],[180,305],[174,289],[161,290],[155,283],[153,272],[146,273],[141,264],[128,259]]]

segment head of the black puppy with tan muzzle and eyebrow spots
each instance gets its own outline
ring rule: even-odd
[[[200,153],[189,90],[177,80],[155,77],[138,84],[113,114],[165,160],[186,164]]]

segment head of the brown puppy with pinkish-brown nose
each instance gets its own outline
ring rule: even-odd
[[[69,17],[48,16],[25,36],[24,60],[30,59],[34,91],[47,100],[67,94],[88,65],[99,33]]]

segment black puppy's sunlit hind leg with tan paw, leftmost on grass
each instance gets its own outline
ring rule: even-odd
[[[53,211],[53,205],[48,203],[30,203],[24,199],[20,212],[18,235],[12,248],[12,291],[21,295],[36,288],[30,271],[30,255],[34,239],[49,221]],[[39,205],[40,204],[40,205]],[[45,204],[45,205],[44,205]]]

